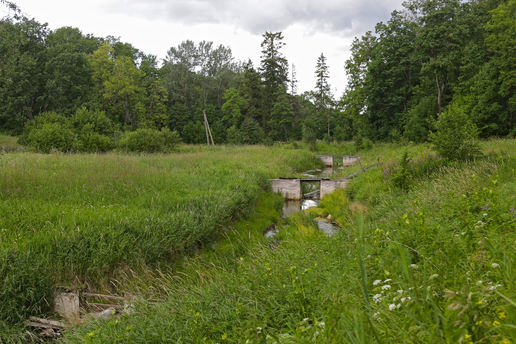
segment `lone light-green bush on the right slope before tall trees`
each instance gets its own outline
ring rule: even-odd
[[[478,129],[456,104],[448,106],[433,122],[437,129],[429,135],[432,149],[449,160],[465,160],[479,156]]]

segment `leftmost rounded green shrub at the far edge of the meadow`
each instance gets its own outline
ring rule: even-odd
[[[25,144],[42,153],[50,153],[52,150],[70,152],[78,148],[77,134],[59,123],[45,123],[31,129]]]

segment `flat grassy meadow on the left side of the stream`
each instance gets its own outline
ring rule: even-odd
[[[313,153],[263,146],[0,155],[0,328],[47,312],[54,285],[146,284],[148,270],[225,233],[268,178],[319,165]]]

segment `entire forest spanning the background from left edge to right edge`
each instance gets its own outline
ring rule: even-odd
[[[261,61],[191,40],[159,61],[117,37],[50,30],[2,3],[10,11],[0,21],[0,130],[22,143],[52,136],[102,151],[152,130],[203,143],[203,109],[215,143],[421,142],[450,105],[481,137],[516,134],[515,0],[405,2],[353,41],[340,99],[324,54],[314,90],[297,94],[281,32],[263,34]]]

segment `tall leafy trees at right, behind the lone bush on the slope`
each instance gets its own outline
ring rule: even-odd
[[[372,140],[425,141],[447,108],[481,137],[516,134],[516,1],[409,0],[356,38],[344,121]]]

